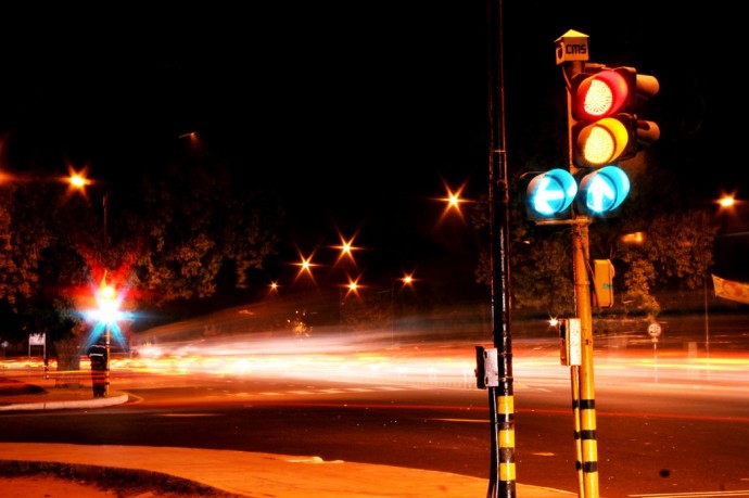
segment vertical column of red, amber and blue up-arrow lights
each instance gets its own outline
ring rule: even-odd
[[[572,78],[570,155],[581,178],[575,202],[580,214],[610,216],[626,199],[630,179],[618,164],[658,140],[658,125],[637,116],[658,89],[655,77],[632,67],[594,64]]]

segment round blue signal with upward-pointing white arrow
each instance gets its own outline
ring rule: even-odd
[[[581,209],[589,215],[607,215],[630,193],[630,178],[617,166],[606,166],[580,182]]]

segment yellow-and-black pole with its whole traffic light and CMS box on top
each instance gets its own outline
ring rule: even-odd
[[[600,265],[591,266],[588,227],[591,217],[613,215],[630,192],[630,179],[619,162],[634,158],[660,137],[657,123],[638,116],[644,101],[658,93],[660,84],[634,67],[591,63],[588,36],[574,29],[555,41],[555,52],[567,87],[569,174],[561,168],[534,174],[529,180],[528,207],[536,222],[569,222],[572,227],[574,299],[580,321],[579,357],[570,363],[576,468],[580,496],[598,498],[592,290],[596,290],[597,306],[612,306],[612,296],[598,292],[598,288],[602,281],[601,290],[608,284],[611,292],[613,267],[608,261],[598,273]],[[579,173],[583,178],[573,186],[569,180]]]

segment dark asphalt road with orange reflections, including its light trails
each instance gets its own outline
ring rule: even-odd
[[[718,346],[721,336],[715,331],[709,361],[691,341],[663,341],[660,349],[642,337],[601,343],[601,495],[749,488],[749,361]],[[487,392],[470,375],[473,354],[468,344],[264,354],[244,358],[243,372],[229,371],[228,356],[220,369],[215,358],[153,360],[147,369],[114,371],[113,383],[131,403],[4,413],[0,439],[319,455],[486,477]],[[516,343],[515,388],[518,482],[574,491],[570,372],[555,341]]]

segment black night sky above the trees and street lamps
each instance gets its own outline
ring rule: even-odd
[[[659,78],[655,146],[685,192],[749,196],[735,152],[746,142],[741,15],[651,5],[624,3],[617,16],[600,2],[503,2],[510,168],[557,166],[518,161],[566,126],[554,41],[575,29],[591,37],[592,62]],[[429,240],[455,261],[468,230],[439,226],[433,199],[444,181],[473,196],[487,189],[486,25],[485,1],[8,13],[4,167],[23,157],[64,173],[67,159],[117,181],[196,131],[243,181],[283,195],[294,244],[358,230],[393,251]]]

